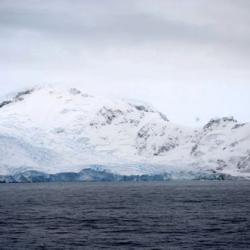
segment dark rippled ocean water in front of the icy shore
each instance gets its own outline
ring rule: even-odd
[[[0,249],[250,249],[250,182],[1,184]]]

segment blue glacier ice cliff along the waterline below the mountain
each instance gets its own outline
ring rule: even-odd
[[[141,181],[173,181],[173,180],[237,180],[226,174],[204,171],[182,171],[159,174],[120,175],[101,169],[85,168],[80,172],[47,174],[39,171],[18,172],[14,175],[1,176],[0,183],[34,183],[34,182],[141,182]]]

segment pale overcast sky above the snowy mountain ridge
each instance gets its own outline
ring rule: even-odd
[[[0,94],[66,85],[179,124],[250,121],[249,0],[0,0]]]

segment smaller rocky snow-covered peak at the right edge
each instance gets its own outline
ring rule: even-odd
[[[194,160],[216,171],[250,173],[250,124],[233,117],[212,119],[197,133],[191,150]]]

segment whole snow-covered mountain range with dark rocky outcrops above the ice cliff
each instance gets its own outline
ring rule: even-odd
[[[142,103],[37,87],[0,101],[0,175],[80,172],[117,175],[211,171],[250,176],[250,124],[213,119],[176,125]]]

